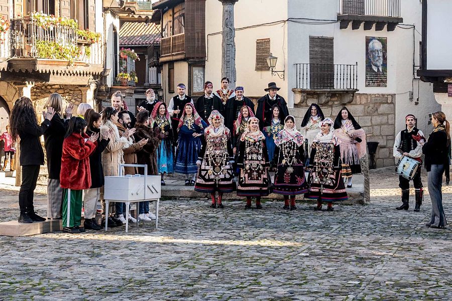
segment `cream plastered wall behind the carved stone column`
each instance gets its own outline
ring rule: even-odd
[[[278,4],[275,5],[275,2]],[[272,76],[270,71],[255,71],[256,40],[270,38],[271,52],[278,57],[275,70],[287,70],[287,1],[241,0],[235,5],[237,86],[244,86],[245,95],[265,95],[269,82],[276,82],[279,94],[287,99],[287,79]],[[215,17],[216,16],[216,17]],[[221,17],[222,5],[217,0],[206,1],[205,79],[219,89],[221,74]],[[262,26],[264,23],[280,22]],[[253,27],[253,28],[246,28]],[[287,76],[287,74],[286,74]]]

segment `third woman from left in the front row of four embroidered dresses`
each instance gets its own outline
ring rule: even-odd
[[[284,129],[275,139],[275,157],[273,162],[277,170],[273,192],[284,196],[285,210],[295,210],[295,195],[308,192],[304,177],[304,137],[296,129],[295,118],[291,115],[284,119]],[[289,207],[290,196],[290,207]]]

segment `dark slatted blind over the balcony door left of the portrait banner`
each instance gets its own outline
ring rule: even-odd
[[[334,88],[333,38],[309,37],[309,76],[311,89]]]

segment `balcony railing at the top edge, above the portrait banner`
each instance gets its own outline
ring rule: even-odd
[[[340,15],[400,17],[400,0],[339,0]]]

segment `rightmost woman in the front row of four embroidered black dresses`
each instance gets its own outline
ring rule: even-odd
[[[332,202],[348,199],[341,177],[339,140],[331,131],[332,124],[333,121],[329,117],[323,119],[320,132],[311,145],[310,188],[305,198],[317,200],[315,210],[322,210],[322,201],[326,201],[328,204],[326,210],[333,211]]]

